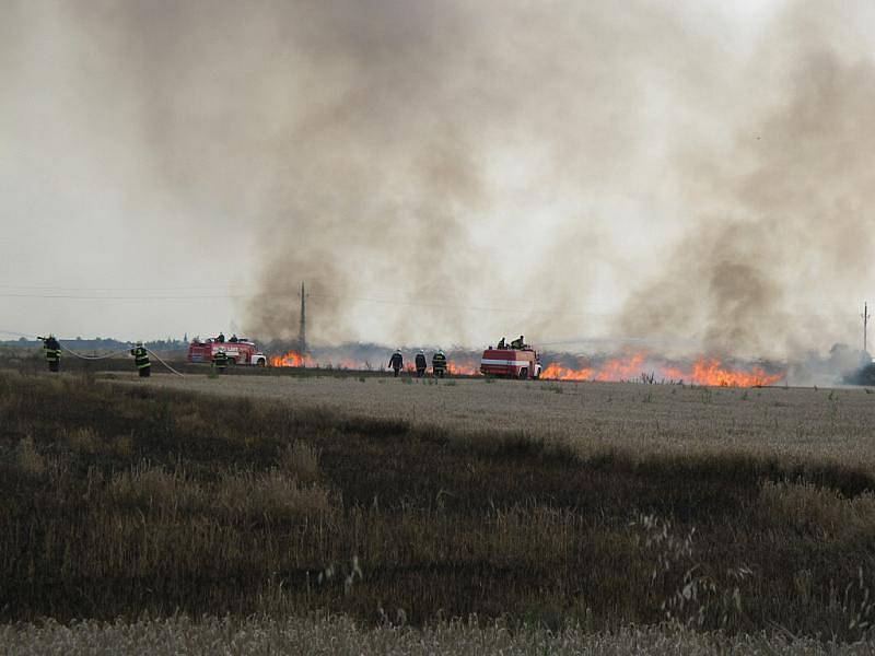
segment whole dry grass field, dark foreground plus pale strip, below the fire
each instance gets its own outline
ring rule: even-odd
[[[863,653],[874,405],[0,370],[0,651]]]

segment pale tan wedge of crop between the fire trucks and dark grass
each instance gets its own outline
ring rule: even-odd
[[[582,452],[744,450],[875,470],[875,394],[864,388],[702,388],[640,383],[155,375],[116,379],[464,431],[523,432]]]

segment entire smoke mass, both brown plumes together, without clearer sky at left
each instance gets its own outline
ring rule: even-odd
[[[522,326],[785,355],[852,335],[875,80],[832,39],[855,15],[792,5],[745,59],[689,8],[311,8],[292,35],[318,91],[285,126],[256,327],[293,326],[290,282],[314,278],[329,339]],[[627,251],[653,200],[677,212],[677,246]],[[605,286],[635,290],[609,321],[587,312]]]

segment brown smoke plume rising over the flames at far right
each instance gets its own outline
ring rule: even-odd
[[[735,132],[719,166],[686,164],[691,230],[628,302],[629,331],[697,333],[711,351],[760,355],[855,336],[849,301],[873,283],[875,66],[790,43],[773,108]]]

